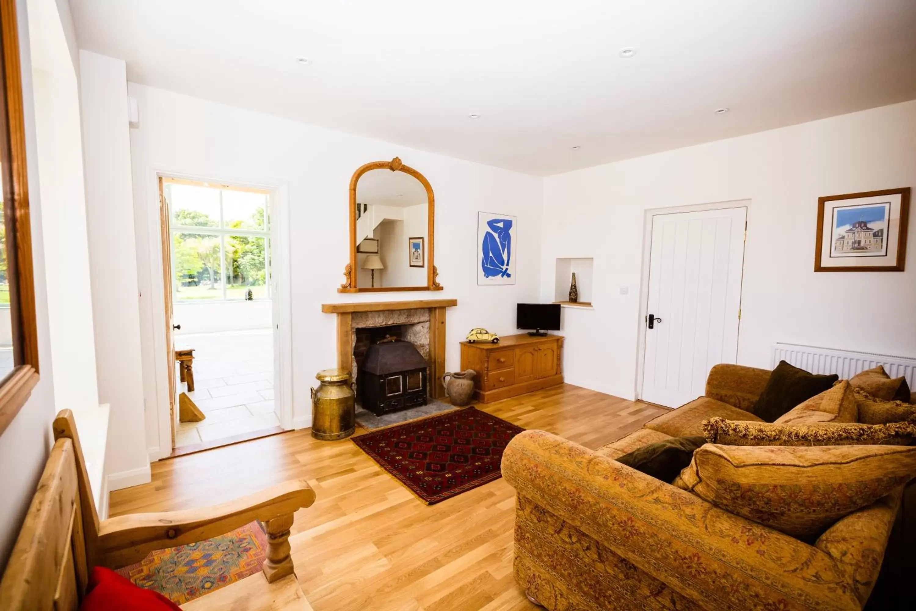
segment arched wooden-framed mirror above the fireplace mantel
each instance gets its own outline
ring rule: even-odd
[[[434,212],[430,181],[399,158],[357,169],[350,179],[350,262],[337,291],[442,290]]]

